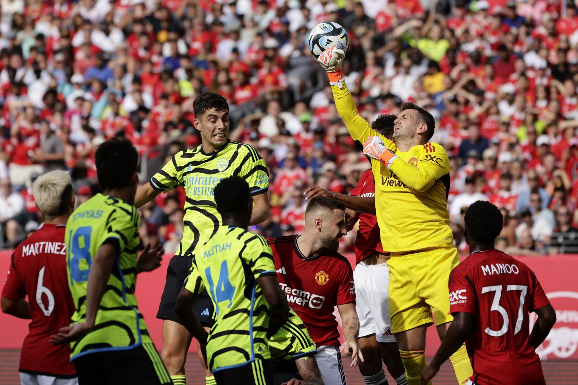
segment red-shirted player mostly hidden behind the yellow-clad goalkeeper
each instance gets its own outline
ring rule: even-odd
[[[395,115],[379,115],[371,126],[385,137],[391,138]],[[327,196],[342,202],[350,215],[347,230],[351,231],[359,220],[355,237],[355,309],[360,317],[360,337],[357,343],[365,362],[360,362],[360,372],[366,385],[387,384],[386,373],[381,360],[398,385],[406,385],[405,369],[399,356],[395,337],[391,332],[389,294],[387,284],[389,253],[383,251],[379,237],[379,226],[375,216],[375,181],[372,170],[361,175],[357,187],[350,195],[310,187],[305,191],[305,199]]]

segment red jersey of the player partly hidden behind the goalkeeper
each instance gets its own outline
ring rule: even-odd
[[[351,196],[375,196],[375,180],[371,169],[361,175],[357,187],[351,190]],[[359,230],[355,238],[355,264],[360,263],[375,252],[384,254],[381,246],[377,216],[373,214],[360,214]]]

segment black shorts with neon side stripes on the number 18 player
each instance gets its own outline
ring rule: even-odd
[[[73,362],[79,385],[172,384],[152,343],[129,350],[86,354]]]

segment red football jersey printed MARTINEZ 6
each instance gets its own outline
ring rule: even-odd
[[[43,225],[14,250],[2,296],[28,296],[32,316],[22,344],[20,371],[76,376],[70,345],[52,346],[50,336],[70,324],[75,308],[66,275],[64,225]]]

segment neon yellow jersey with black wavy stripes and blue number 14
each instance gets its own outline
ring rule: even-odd
[[[209,292],[216,322],[207,341],[211,371],[271,358],[266,331],[269,305],[257,278],[275,275],[265,239],[240,227],[220,226],[192,257],[185,287]]]

